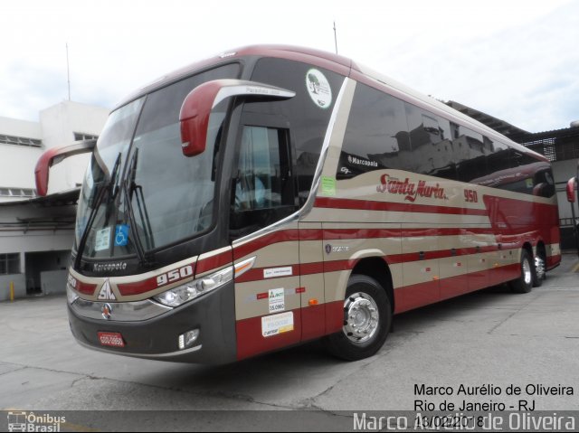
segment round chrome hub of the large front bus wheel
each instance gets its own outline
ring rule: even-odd
[[[378,330],[380,315],[375,300],[365,293],[355,293],[344,301],[346,337],[354,343],[365,343]]]

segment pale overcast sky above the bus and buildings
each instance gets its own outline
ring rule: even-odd
[[[579,119],[577,0],[2,2],[0,116],[112,108],[167,71],[254,43],[335,51],[531,132]]]

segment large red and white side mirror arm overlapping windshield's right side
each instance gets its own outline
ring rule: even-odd
[[[183,155],[204,153],[209,117],[223,99],[239,96],[265,100],[289,99],[295,95],[291,90],[245,80],[213,80],[197,86],[185,97],[179,113]]]

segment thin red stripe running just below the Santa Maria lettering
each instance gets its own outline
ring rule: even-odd
[[[355,209],[358,211],[385,211],[385,212],[416,212],[416,213],[444,213],[450,215],[479,215],[489,216],[486,209],[455,208],[450,206],[434,206],[431,204],[373,202],[369,200],[335,199],[318,197],[314,206],[318,208]]]

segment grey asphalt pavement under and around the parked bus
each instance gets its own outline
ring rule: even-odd
[[[356,410],[521,401],[579,410],[578,271],[565,254],[531,293],[492,287],[397,315],[382,350],[358,362],[319,342],[217,367],[126,358],[76,344],[66,297],[3,302],[0,409],[66,413],[62,429],[76,431],[352,429],[345,413]],[[84,418],[72,422],[77,411]]]

